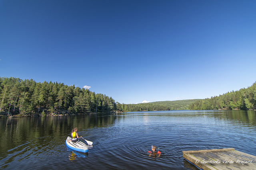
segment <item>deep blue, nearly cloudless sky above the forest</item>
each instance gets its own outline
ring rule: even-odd
[[[0,77],[136,104],[256,81],[255,0],[0,0]]]

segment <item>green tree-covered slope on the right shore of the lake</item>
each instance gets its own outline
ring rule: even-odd
[[[256,109],[256,82],[248,88],[227,92],[204,100],[196,100],[189,106],[192,110]]]

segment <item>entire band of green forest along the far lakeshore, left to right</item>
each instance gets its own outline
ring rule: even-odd
[[[256,82],[248,88],[206,99],[120,104],[104,94],[58,82],[0,77],[0,114],[46,115],[111,111],[256,109]]]

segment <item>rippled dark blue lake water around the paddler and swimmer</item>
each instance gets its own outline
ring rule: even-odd
[[[66,148],[74,127],[93,142],[88,154]],[[232,147],[256,155],[256,111],[4,118],[0,133],[0,169],[196,169],[182,150]],[[149,156],[151,145],[159,157]]]

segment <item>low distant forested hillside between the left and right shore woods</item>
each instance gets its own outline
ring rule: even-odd
[[[117,107],[122,111],[187,110],[190,104],[197,100],[198,99],[150,102],[142,104],[122,104],[121,107],[118,107],[119,104],[117,104]]]

